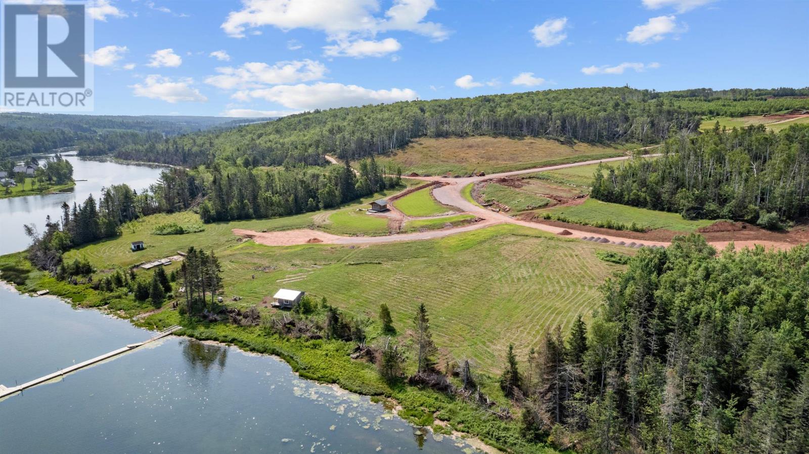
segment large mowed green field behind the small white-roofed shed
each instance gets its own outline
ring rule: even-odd
[[[278,288],[294,288],[374,320],[379,304],[386,303],[404,335],[423,302],[439,348],[496,372],[509,343],[524,357],[549,327],[567,328],[576,315],[599,305],[599,284],[623,267],[599,260],[596,250],[625,252],[497,225],[430,241],[353,248],[245,242],[223,251],[220,260],[225,294],[242,296],[231,304],[243,309]],[[274,269],[257,271],[263,267]]]

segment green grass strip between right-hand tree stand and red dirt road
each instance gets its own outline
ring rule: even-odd
[[[688,221],[677,213],[660,212],[628,205],[610,204],[600,200],[588,199],[583,204],[559,208],[546,208],[540,213],[548,212],[554,216],[565,216],[573,223],[592,223],[612,221],[616,224],[638,226],[650,229],[668,229],[676,232],[693,232],[715,221]]]

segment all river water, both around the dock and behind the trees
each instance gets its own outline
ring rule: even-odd
[[[71,157],[71,195],[0,200],[2,253],[23,224],[159,169]],[[86,184],[82,184],[86,183]],[[13,386],[150,337],[97,310],[0,286],[0,384]],[[297,376],[268,355],[170,336],[0,401],[0,452],[472,452],[368,397]]]

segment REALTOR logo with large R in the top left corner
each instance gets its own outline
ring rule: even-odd
[[[92,110],[92,71],[85,59],[92,48],[91,28],[83,3],[4,2],[2,106]]]

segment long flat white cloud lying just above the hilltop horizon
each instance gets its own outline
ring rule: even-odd
[[[282,106],[307,111],[331,107],[362,106],[364,104],[395,103],[417,98],[409,88],[371,90],[362,86],[341,83],[316,82],[311,85],[278,85],[259,90],[237,91],[232,97],[239,100],[265,99]]]

